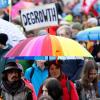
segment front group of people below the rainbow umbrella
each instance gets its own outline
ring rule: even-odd
[[[85,61],[81,77],[74,83],[62,72],[62,61],[47,61],[48,69],[43,66],[43,60],[37,62],[31,79],[30,68],[23,76],[21,64],[15,61],[5,64],[0,86],[1,100],[96,100],[99,66],[94,60]]]

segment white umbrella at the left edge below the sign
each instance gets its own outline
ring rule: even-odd
[[[5,21],[0,18],[0,33],[8,35],[8,42],[10,45],[15,46],[21,40],[26,39],[24,33],[18,28],[17,25]]]

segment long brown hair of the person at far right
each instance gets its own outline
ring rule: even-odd
[[[83,70],[83,76],[82,76],[82,84],[85,89],[90,89],[90,85],[88,84],[90,83],[90,80],[88,76],[89,76],[89,72],[92,69],[96,69],[98,71],[98,66],[96,62],[94,60],[86,61],[84,64],[84,70]],[[97,81],[98,81],[98,78],[96,77],[92,82],[95,90],[97,90]]]

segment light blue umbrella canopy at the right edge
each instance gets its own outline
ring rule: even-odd
[[[78,41],[100,40],[100,27],[88,28],[76,35]]]

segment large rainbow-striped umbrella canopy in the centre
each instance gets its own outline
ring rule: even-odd
[[[12,48],[5,57],[27,56],[81,56],[92,57],[79,43],[55,35],[28,38]]]

